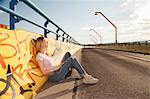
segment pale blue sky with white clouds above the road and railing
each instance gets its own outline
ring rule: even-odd
[[[0,0],[0,5],[9,7],[10,0]],[[31,0],[54,23],[81,44],[115,42],[115,28],[100,14],[102,12],[117,26],[117,40],[121,42],[150,40],[150,0]],[[16,7],[16,12],[28,19],[43,25],[43,17],[22,2]],[[0,23],[9,25],[9,16],[0,10]],[[35,33],[43,33],[25,21],[16,24],[21,28]],[[49,24],[48,28],[56,31]],[[98,36],[94,29],[100,36]],[[51,35],[54,37],[54,35]]]

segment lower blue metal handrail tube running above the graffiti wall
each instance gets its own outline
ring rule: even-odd
[[[27,18],[24,18],[22,15],[16,13],[16,12],[13,11],[13,10],[10,10],[10,9],[8,9],[8,8],[6,8],[6,7],[4,7],[4,6],[2,6],[2,5],[0,5],[0,9],[3,10],[3,11],[5,11],[5,12],[7,12],[7,13],[13,14],[14,16],[20,17],[20,18],[22,18],[23,20],[25,20],[25,21],[27,21],[27,22],[33,24],[33,25],[36,25],[37,27],[40,27],[40,28],[45,29],[45,30],[48,30],[48,32],[51,32],[51,33],[53,33],[53,34],[56,34],[56,35],[61,36],[62,38],[65,38],[65,37],[63,37],[62,35],[57,34],[57,33],[53,32],[53,31],[49,30],[48,28],[45,28],[45,27],[43,27],[43,26],[41,26],[41,25],[39,25],[39,24],[36,24],[36,23],[30,21],[30,20],[27,19]],[[70,39],[68,39],[68,38],[65,38],[65,39],[67,39],[68,41],[72,42],[72,41],[71,41]],[[75,42],[72,42],[72,43],[75,43]],[[75,44],[77,44],[77,43],[75,43]]]

